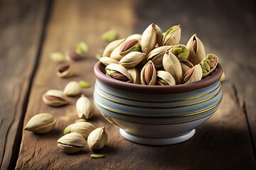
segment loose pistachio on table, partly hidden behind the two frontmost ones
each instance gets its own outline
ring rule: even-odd
[[[66,135],[70,132],[78,132],[80,133],[85,139],[87,139],[88,135],[92,130],[95,130],[95,125],[92,125],[92,123],[88,122],[77,122],[73,123],[71,125],[68,125],[64,131],[63,134]]]

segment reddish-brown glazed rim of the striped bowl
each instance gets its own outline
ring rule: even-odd
[[[111,86],[112,88],[116,88],[122,91],[132,91],[142,94],[177,94],[177,93],[184,93],[188,91],[195,91],[198,89],[202,89],[204,87],[210,86],[215,82],[220,80],[221,74],[223,72],[222,67],[220,64],[216,67],[217,71],[215,74],[202,79],[201,81],[196,81],[191,84],[178,84],[178,85],[170,85],[170,86],[148,86],[142,84],[132,84],[127,83],[124,81],[119,81],[116,79],[112,79],[111,77],[107,76],[103,72],[105,72],[105,65],[102,64],[100,61],[95,64],[94,72],[96,78],[107,86]]]

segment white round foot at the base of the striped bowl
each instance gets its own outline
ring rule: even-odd
[[[196,130],[193,129],[190,132],[187,132],[186,134],[175,136],[175,137],[164,137],[164,138],[152,138],[152,137],[139,137],[135,135],[131,135],[127,132],[124,132],[124,130],[119,129],[120,134],[122,137],[124,137],[126,140],[129,140],[131,142],[135,142],[138,144],[143,145],[173,145],[180,142],[184,142],[186,140],[189,140],[193,135],[195,134]]]

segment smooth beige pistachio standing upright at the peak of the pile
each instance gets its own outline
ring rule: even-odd
[[[146,55],[156,46],[156,25],[151,23],[142,33],[142,52]]]

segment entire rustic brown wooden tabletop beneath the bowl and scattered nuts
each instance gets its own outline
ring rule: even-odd
[[[256,19],[255,1],[0,1],[0,167],[1,169],[256,169]],[[63,90],[68,81],[85,80],[91,100],[95,54],[107,42],[110,28],[125,38],[150,23],[162,30],[181,24],[181,43],[194,33],[206,52],[220,58],[226,80],[220,108],[196,129],[191,140],[153,147],[124,140],[100,113],[91,123],[105,126],[104,159],[92,159],[88,148],[61,152],[56,141],[63,128],[78,119],[75,101],[62,108],[46,106],[42,94]],[[65,52],[78,41],[90,47],[85,60],[72,62],[75,77],[55,75],[51,52]],[[52,113],[53,131],[24,131],[37,113]]]

